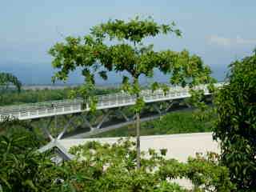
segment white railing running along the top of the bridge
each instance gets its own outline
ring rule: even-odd
[[[214,86],[222,86],[223,83],[216,83]],[[205,94],[210,94],[206,85],[197,86],[196,89],[204,90]],[[189,88],[180,86],[171,87],[164,94],[162,90],[142,90],[142,97],[145,102],[161,102],[179,98],[189,98]],[[131,106],[135,103],[135,98],[126,93],[98,95],[97,110],[109,109],[121,106]],[[82,99],[61,100],[51,102],[38,102],[34,104],[22,104],[17,106],[0,107],[0,122],[4,118],[18,118],[19,120],[45,118],[54,115],[74,114],[90,110],[88,105],[83,105]]]

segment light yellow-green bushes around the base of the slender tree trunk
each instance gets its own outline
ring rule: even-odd
[[[147,158],[142,154],[141,168],[137,170],[135,145],[124,140],[113,146],[87,142],[72,148],[70,152],[82,160],[79,163],[89,166],[86,171],[90,171],[90,179],[86,178],[86,183],[90,187],[86,191],[189,191],[172,181],[175,178],[190,179],[193,191],[234,189],[228,170],[218,165],[216,154],[209,154],[208,159],[198,155],[188,162],[178,162],[166,159],[164,150],[162,154],[149,150]],[[75,186],[84,182],[77,181]]]

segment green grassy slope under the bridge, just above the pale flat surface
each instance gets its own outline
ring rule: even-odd
[[[141,135],[158,134],[185,134],[210,132],[213,122],[199,121],[194,117],[193,111],[180,111],[166,114],[150,122],[142,122]],[[125,126],[116,130],[95,134],[93,138],[134,136],[134,125]]]

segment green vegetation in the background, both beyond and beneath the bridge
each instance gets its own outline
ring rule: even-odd
[[[4,102],[2,103],[4,106],[12,105],[12,104],[22,104],[22,103],[29,103],[29,102],[45,102],[45,101],[50,101],[50,100],[58,100],[58,99],[65,99],[69,97],[70,90],[72,89],[64,89],[64,90],[21,90],[21,92],[18,94],[17,91],[14,90],[6,90],[4,94],[2,94],[2,97],[5,98]],[[113,93],[118,91],[118,89],[114,88],[108,88],[108,89],[97,89],[95,90],[95,94],[108,94],[108,93]],[[159,103],[159,107],[167,107],[163,106],[165,103]],[[183,102],[178,102],[177,105],[172,106],[172,109],[179,109],[179,107],[185,107],[186,104]],[[143,108],[142,114],[147,114],[150,113],[151,110],[154,110],[152,106],[146,105]],[[132,107],[126,107],[125,109],[122,109],[122,111],[128,116],[132,117],[133,114],[133,109]],[[205,123],[195,121],[195,119],[192,117],[192,112],[187,111],[187,112],[182,112],[178,113],[176,115],[176,112],[173,114],[167,114],[167,115],[162,115],[161,121],[159,120],[154,120],[150,122],[143,122],[142,123],[142,135],[148,135],[148,134],[178,134],[178,133],[192,133],[192,132],[205,132],[205,131],[210,131],[210,123]],[[94,125],[94,122],[97,121],[97,117],[101,117],[102,112],[97,111],[97,113],[94,113],[93,115],[86,114],[87,120]],[[168,118],[169,117],[169,118]],[[58,116],[57,122],[58,126],[55,127],[55,123],[52,122],[50,123],[50,133],[56,136],[62,129],[63,126],[66,125],[66,119],[71,118],[70,115],[67,116]],[[73,117],[74,118],[74,117]],[[170,118],[173,118],[174,121],[172,121]],[[182,119],[179,121],[178,119]],[[123,117],[118,114],[114,114],[114,110],[112,111],[109,121],[116,121],[116,122],[121,122],[123,121]],[[33,130],[40,136],[42,139],[43,133],[42,133],[42,126],[46,126],[46,124],[49,122],[49,119],[47,118],[42,118],[38,120],[33,120],[33,121],[22,121],[22,122],[17,122],[17,124],[12,123],[12,124],[6,124],[6,125],[1,125],[0,126],[0,134],[4,134],[6,131],[8,132],[9,130],[13,129],[21,129],[21,128],[26,128],[27,130]],[[106,122],[110,123],[110,122]],[[186,123],[185,123],[186,122]],[[70,126],[67,129],[67,134],[72,135],[74,132],[79,133],[79,131],[86,131],[86,127],[84,123],[82,122],[82,119],[77,117],[74,118],[74,125],[77,126],[77,129],[75,130],[73,126]],[[83,126],[82,126],[83,125]],[[206,125],[206,127],[204,126]],[[148,129],[146,127],[149,127]],[[153,127],[154,126],[154,127]],[[89,127],[88,127],[88,130]],[[104,136],[129,136],[133,135],[134,136],[134,126],[128,126],[124,127],[118,130],[112,130],[109,132],[103,133],[103,134],[97,134],[97,136],[102,137]]]

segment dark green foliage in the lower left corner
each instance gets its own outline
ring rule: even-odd
[[[2,186],[2,191],[27,192],[43,188],[43,183],[38,181],[40,173],[43,165],[52,163],[36,152],[37,147],[36,137],[26,130],[0,136],[0,186]]]

